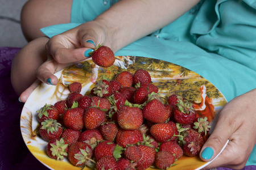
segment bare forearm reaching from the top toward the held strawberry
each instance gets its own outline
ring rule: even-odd
[[[95,20],[108,27],[116,52],[124,46],[173,22],[200,0],[122,0]]]

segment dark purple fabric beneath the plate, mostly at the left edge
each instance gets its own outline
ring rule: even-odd
[[[0,170],[48,169],[28,150],[20,132],[23,103],[11,86],[11,62],[20,48],[0,47]],[[218,170],[232,170],[217,168]],[[242,170],[254,170],[247,166]]]

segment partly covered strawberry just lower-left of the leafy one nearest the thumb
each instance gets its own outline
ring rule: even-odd
[[[175,159],[180,159],[181,156],[183,156],[182,148],[176,142],[173,141],[162,143],[160,145],[159,151],[170,152],[172,155],[174,155]]]

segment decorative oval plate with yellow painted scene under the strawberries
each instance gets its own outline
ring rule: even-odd
[[[73,82],[82,84],[82,95],[89,94],[91,88],[94,87],[94,82],[102,78],[112,80],[123,69],[131,73],[138,69],[147,70],[152,77],[152,82],[158,86],[160,95],[167,97],[171,94],[179,94],[193,101],[197,114],[207,116],[212,129],[214,129],[216,124],[214,117],[224,107],[226,99],[207,79],[184,67],[159,59],[135,56],[116,56],[116,58],[114,65],[108,68],[99,67],[90,59],[67,67],[55,74],[59,78],[57,86],[42,83],[28,97],[20,117],[22,137],[31,153],[49,169],[81,168],[73,166],[67,158],[60,161],[48,157],[46,154],[47,142],[38,136],[39,123],[36,120],[36,111],[46,103],[55,104],[58,100],[67,99],[70,93],[68,85]],[[208,163],[203,162],[199,157],[182,156],[175,164],[170,168],[171,170],[200,169]]]

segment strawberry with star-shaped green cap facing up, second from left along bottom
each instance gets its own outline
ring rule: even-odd
[[[68,148],[68,160],[76,167],[84,167],[90,162],[92,155],[92,147],[84,142],[73,143]]]

